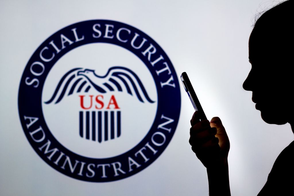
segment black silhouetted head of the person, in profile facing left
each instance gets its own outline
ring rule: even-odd
[[[270,124],[294,120],[293,3],[285,1],[266,11],[249,38],[252,68],[243,88],[252,91],[256,109]]]

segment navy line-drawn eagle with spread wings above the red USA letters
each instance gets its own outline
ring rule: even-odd
[[[139,77],[132,70],[118,66],[109,68],[104,76],[96,75],[93,69],[71,69],[60,79],[51,99],[45,103],[50,104],[56,100],[55,104],[57,104],[67,92],[67,96],[69,96],[74,92],[88,92],[91,88],[96,89],[100,93],[126,91],[132,96],[136,94],[136,97],[142,103],[144,103],[144,99],[154,103],[148,96]],[[68,91],[67,89],[70,90]]]

